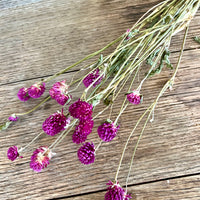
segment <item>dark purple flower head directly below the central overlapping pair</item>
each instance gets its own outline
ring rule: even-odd
[[[77,152],[79,160],[84,165],[89,165],[95,160],[95,148],[93,143],[86,142]]]

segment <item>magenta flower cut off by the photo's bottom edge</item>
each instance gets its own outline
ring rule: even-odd
[[[109,185],[109,187],[105,194],[105,200],[129,200],[132,198],[130,194],[126,194],[118,182],[114,184],[112,181],[109,181],[106,185]]]

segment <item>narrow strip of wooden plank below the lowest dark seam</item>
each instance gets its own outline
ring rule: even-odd
[[[134,200],[188,200],[200,199],[200,175],[172,180],[158,181],[129,187]],[[102,200],[105,192],[66,198],[73,200]],[[65,199],[65,198],[63,198]]]

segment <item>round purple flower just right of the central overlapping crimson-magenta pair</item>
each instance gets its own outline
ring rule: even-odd
[[[115,126],[114,122],[104,122],[97,129],[99,137],[104,142],[110,142],[116,135],[120,126]]]

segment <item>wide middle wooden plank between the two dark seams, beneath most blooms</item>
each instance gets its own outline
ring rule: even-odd
[[[155,111],[155,122],[149,124],[138,148],[129,184],[138,184],[170,177],[198,173],[199,166],[199,126],[200,109],[200,68],[198,67],[199,50],[184,52],[181,68],[178,72],[174,90],[161,98]],[[174,63],[178,54],[172,54]],[[144,103],[138,107],[130,106],[120,119],[118,137],[110,144],[104,143],[97,152],[96,162],[90,166],[79,163],[76,152],[79,146],[71,142],[71,134],[56,148],[57,156],[42,173],[34,173],[29,169],[29,158],[33,149],[40,145],[49,145],[54,138],[41,138],[25,152],[24,158],[11,163],[6,158],[10,145],[25,145],[41,131],[45,117],[55,112],[59,106],[49,101],[40,110],[27,117],[22,117],[16,125],[0,134],[0,198],[1,199],[50,199],[79,195],[105,189],[105,183],[114,179],[123,144],[133,124],[144,108],[152,102],[158,90],[167,81],[171,73],[163,72],[144,85]],[[63,75],[69,79],[72,74]],[[32,84],[35,80],[0,86],[1,119],[8,113],[28,110],[34,101],[21,103],[17,100],[17,89]],[[50,87],[50,86],[48,86]],[[80,96],[82,88],[72,93],[74,99]],[[47,94],[47,93],[46,93]],[[121,96],[121,98],[123,95]],[[36,100],[38,102],[39,100]],[[119,110],[117,103],[115,113]],[[101,107],[102,108],[102,107]],[[100,110],[101,108],[97,109]],[[95,120],[95,128],[88,141],[98,143],[97,126],[107,118],[108,113]],[[113,116],[114,119],[114,116]],[[128,120],[127,120],[128,119]],[[141,126],[140,126],[141,128]],[[119,181],[125,184],[131,149],[139,132],[136,132],[123,162]],[[191,183],[192,184],[192,183]],[[196,182],[194,182],[195,188]],[[142,187],[142,186],[141,186]],[[192,187],[192,186],[191,186]],[[162,187],[159,190],[162,194]],[[193,191],[191,189],[191,191]],[[133,188],[133,191],[135,189]],[[148,194],[147,194],[148,195]],[[197,194],[194,194],[194,196]],[[159,196],[158,196],[159,197]],[[183,196],[184,197],[184,196]],[[175,198],[175,197],[174,197]],[[92,198],[91,198],[92,199]]]

